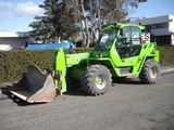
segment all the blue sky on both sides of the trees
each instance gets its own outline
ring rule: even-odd
[[[28,31],[34,16],[42,15],[38,4],[45,0],[0,0],[0,31]],[[174,0],[148,0],[139,3],[128,17],[154,17],[174,15]]]

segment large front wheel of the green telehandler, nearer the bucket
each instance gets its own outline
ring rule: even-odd
[[[110,70],[103,65],[91,65],[83,78],[83,90],[90,95],[103,94],[111,87]]]

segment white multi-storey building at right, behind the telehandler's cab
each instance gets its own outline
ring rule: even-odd
[[[164,15],[139,20],[142,26],[151,32],[151,41],[158,46],[174,46],[174,15]],[[130,24],[139,24],[132,21]]]

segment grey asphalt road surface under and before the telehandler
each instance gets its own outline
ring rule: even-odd
[[[72,90],[52,102],[29,104],[1,94],[0,130],[174,130],[171,70],[162,69],[154,84],[140,83],[138,77],[113,81],[99,96]]]

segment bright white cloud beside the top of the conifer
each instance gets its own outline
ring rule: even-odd
[[[42,9],[35,4],[33,1],[26,3],[17,3],[15,8],[15,16],[29,16],[29,15],[38,15]]]

